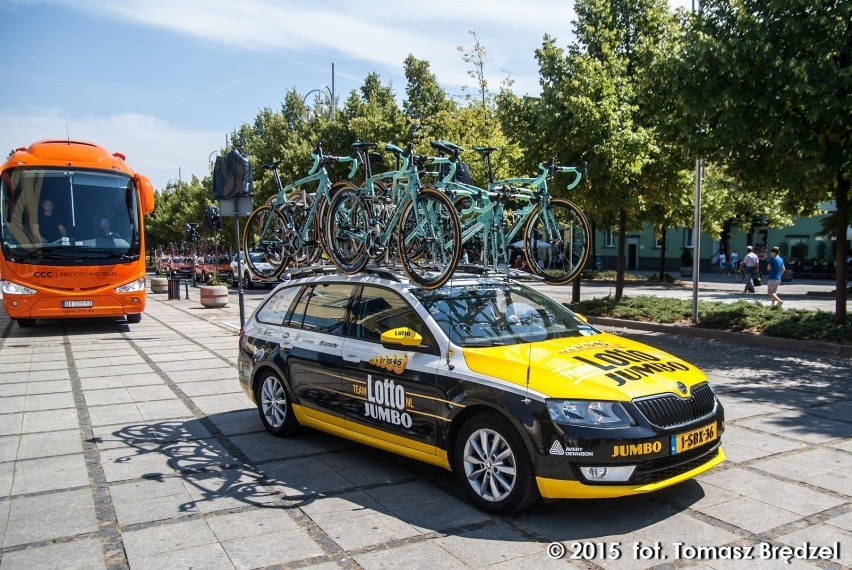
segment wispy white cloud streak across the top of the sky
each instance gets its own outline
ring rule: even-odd
[[[470,30],[486,48],[486,72],[493,87],[507,73],[517,90],[538,91],[534,50],[545,33],[567,43],[574,19],[565,0],[434,0],[411,5],[391,0],[77,0],[99,15],[245,50],[291,52],[307,60],[350,57],[399,73],[411,53],[430,62],[438,79],[449,86],[469,84],[467,65],[456,50],[469,48]]]

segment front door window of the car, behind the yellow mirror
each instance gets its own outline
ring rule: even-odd
[[[422,346],[434,347],[420,315],[396,292],[367,285],[352,307],[353,323],[350,336],[358,340],[380,342],[382,333],[408,327],[423,337]]]

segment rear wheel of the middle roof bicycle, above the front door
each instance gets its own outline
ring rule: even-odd
[[[331,202],[325,222],[328,256],[338,269],[352,275],[367,265],[369,228],[369,205],[357,190],[340,190]]]

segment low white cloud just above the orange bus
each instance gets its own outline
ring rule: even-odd
[[[225,144],[219,131],[185,130],[155,117],[129,113],[69,117],[59,109],[33,109],[26,115],[0,114],[0,124],[3,159],[10,150],[37,140],[70,135],[125,155],[130,168],[148,176],[158,190],[179,175],[185,181],[192,175],[204,178],[210,153]]]

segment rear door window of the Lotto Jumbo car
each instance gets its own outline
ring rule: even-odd
[[[352,285],[339,283],[317,283],[305,287],[293,308],[290,326],[326,334],[344,334],[352,293]]]

